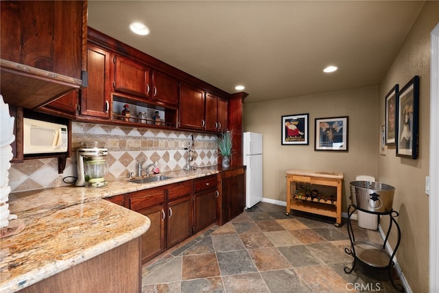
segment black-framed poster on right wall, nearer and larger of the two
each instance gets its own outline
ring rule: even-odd
[[[419,76],[407,82],[396,99],[396,156],[418,159]]]

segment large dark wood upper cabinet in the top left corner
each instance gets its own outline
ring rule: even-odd
[[[82,86],[87,1],[0,1],[1,92],[37,108]]]

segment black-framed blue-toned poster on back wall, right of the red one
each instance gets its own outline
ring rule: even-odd
[[[348,116],[316,118],[315,150],[348,150]]]

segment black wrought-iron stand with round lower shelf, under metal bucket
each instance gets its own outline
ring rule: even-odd
[[[355,236],[351,224],[351,215],[356,210],[363,211],[365,213],[372,213],[375,215],[388,215],[390,217],[389,228],[382,245],[368,241],[355,241]],[[379,213],[360,209],[355,204],[351,204],[349,206],[347,227],[349,239],[351,240],[351,248],[344,248],[344,252],[348,255],[352,255],[354,260],[352,262],[352,268],[344,267],[344,272],[346,272],[346,274],[351,274],[351,272],[353,272],[353,270],[355,269],[357,261],[359,261],[369,268],[374,268],[377,270],[388,270],[390,282],[392,282],[393,287],[400,292],[404,291],[404,288],[401,285],[396,285],[392,278],[392,268],[394,266],[393,258],[396,254],[396,250],[398,250],[399,243],[401,242],[401,229],[399,228],[399,224],[394,219],[394,217],[398,216],[399,213],[394,210],[385,213]],[[392,224],[394,224],[398,230],[398,242],[396,242],[396,246],[393,250],[392,255],[389,255],[387,251],[385,251],[385,244],[387,244],[388,242],[390,230],[392,230]]]

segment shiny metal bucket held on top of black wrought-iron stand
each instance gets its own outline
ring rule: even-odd
[[[392,210],[395,188],[393,186],[370,181],[353,181],[351,196],[357,207],[366,211],[385,213]]]

